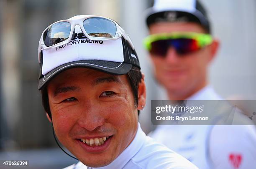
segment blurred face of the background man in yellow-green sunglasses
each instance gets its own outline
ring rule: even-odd
[[[154,23],[150,34],[172,32],[205,33],[196,23]],[[179,55],[170,47],[165,57],[152,55],[156,79],[175,99],[184,99],[206,85],[207,66],[215,51],[208,45],[194,53]],[[170,95],[169,95],[170,96]]]

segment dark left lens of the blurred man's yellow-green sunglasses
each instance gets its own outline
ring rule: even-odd
[[[164,57],[169,48],[170,40],[158,40],[151,43],[151,50],[149,51],[152,55]]]

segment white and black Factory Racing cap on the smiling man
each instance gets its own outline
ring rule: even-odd
[[[77,20],[84,16],[87,15],[75,16],[69,20]],[[119,29],[125,36],[128,36],[122,28]],[[59,34],[54,37],[59,37]],[[80,25],[75,25],[71,40],[63,45],[55,45],[44,50],[43,39],[44,33],[42,33],[38,46],[40,64],[38,90],[41,90],[56,75],[69,68],[92,68],[115,75],[126,74],[133,66],[140,68],[138,56],[131,45],[132,42],[127,37],[125,39],[123,35],[116,40],[95,39],[95,37],[85,36]]]

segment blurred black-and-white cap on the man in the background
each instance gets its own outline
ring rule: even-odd
[[[157,22],[195,22],[210,33],[206,10],[198,0],[154,0],[145,12],[148,27]]]

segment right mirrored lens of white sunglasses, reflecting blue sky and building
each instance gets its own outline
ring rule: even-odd
[[[116,25],[105,18],[88,18],[84,20],[84,29],[89,36],[113,38],[116,33]]]

